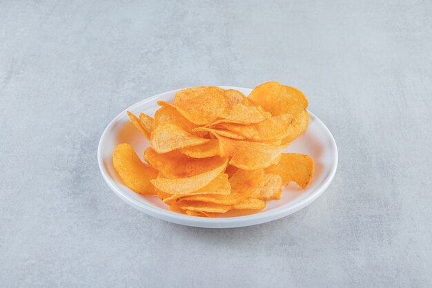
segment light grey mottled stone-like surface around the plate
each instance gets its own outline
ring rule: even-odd
[[[141,2],[0,0],[1,287],[432,287],[431,1]],[[124,108],[268,80],[339,147],[306,209],[182,227],[102,180]]]

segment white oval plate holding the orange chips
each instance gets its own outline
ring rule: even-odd
[[[248,88],[220,87],[236,89],[244,95],[251,93],[251,89]],[[305,190],[301,190],[293,183],[289,184],[284,188],[280,200],[267,201],[266,208],[261,211],[248,215],[242,215],[240,211],[230,211],[222,218],[195,217],[170,211],[166,204],[157,197],[145,197],[130,191],[121,183],[112,166],[112,153],[117,144],[126,142],[131,144],[135,152],[142,157],[149,142],[129,121],[126,111],[131,111],[135,115],[144,112],[154,116],[155,111],[159,108],[156,102],[159,100],[173,101],[177,91],[161,93],[130,106],[108,124],[99,141],[97,160],[104,180],[122,200],[139,211],[161,220],[194,227],[244,227],[276,220],[306,207],[317,199],[333,180],[337,167],[336,142],[324,123],[309,111],[310,119],[306,132],[293,141],[285,152],[303,153],[313,158],[315,173],[311,184]]]

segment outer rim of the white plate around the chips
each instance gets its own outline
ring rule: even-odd
[[[219,86],[219,85],[216,85],[216,86],[220,87],[220,88],[224,88],[224,89],[236,89],[236,90],[240,89],[240,90],[252,91],[251,88],[244,88],[244,87]],[[115,124],[115,122],[119,121],[119,119],[124,116],[124,113],[126,113],[126,111],[133,110],[135,106],[141,106],[143,104],[147,104],[148,102],[153,102],[155,99],[159,99],[160,97],[163,97],[166,94],[176,93],[177,91],[183,90],[183,89],[186,89],[186,88],[180,88],[180,89],[175,89],[175,90],[170,90],[170,91],[166,91],[163,93],[159,93],[157,95],[148,97],[146,99],[142,99],[141,101],[139,101],[135,104],[132,104],[131,106],[126,108],[124,111],[121,111],[121,113],[119,113],[116,117],[114,117],[114,119],[112,119],[110,121],[110,123],[104,129],[104,132],[101,134],[101,137],[99,139],[99,144],[97,146],[97,162],[99,164],[99,171],[101,172],[102,177],[104,178],[106,184],[108,184],[110,189],[117,196],[119,196],[119,198],[121,198],[121,200],[124,200],[124,202],[128,203],[130,206],[134,207],[135,209],[137,209],[141,212],[146,213],[147,215],[153,216],[153,217],[158,218],[160,220],[173,222],[176,224],[181,224],[181,225],[186,225],[186,226],[191,226],[191,227],[202,227],[202,228],[246,227],[246,226],[251,226],[251,225],[255,225],[255,224],[262,224],[262,223],[270,222],[273,220],[277,220],[279,218],[284,218],[287,215],[291,215],[292,213],[295,213],[295,212],[299,211],[300,209],[303,209],[308,204],[311,204],[317,198],[319,198],[320,195],[322,195],[322,193],[324,193],[324,191],[326,191],[328,186],[333,181],[333,178],[335,177],[335,173],[337,171],[337,164],[339,161],[339,155],[338,155],[338,151],[337,151],[337,144],[335,142],[335,138],[333,137],[333,134],[328,129],[328,127],[324,124],[324,122],[322,122],[321,119],[318,118],[311,111],[308,111],[308,113],[313,118],[315,118],[315,121],[319,122],[319,124],[321,124],[321,126],[324,127],[324,129],[326,130],[326,133],[328,133],[328,135],[330,136],[331,146],[333,147],[333,152],[334,152],[333,159],[332,159],[334,165],[333,165],[333,167],[331,167],[330,173],[328,174],[328,176],[324,180],[324,183],[321,186],[317,187],[317,189],[315,189],[315,191],[313,191],[313,193],[311,193],[311,195],[308,195],[305,198],[302,198],[300,200],[297,200],[297,201],[291,203],[291,205],[289,207],[278,207],[277,209],[273,209],[271,211],[258,212],[258,213],[254,213],[251,215],[242,215],[242,216],[226,217],[226,218],[202,218],[202,217],[193,217],[190,215],[175,213],[173,211],[168,211],[168,210],[159,210],[159,209],[156,209],[155,207],[153,207],[153,205],[151,205],[151,204],[144,204],[142,202],[138,202],[137,200],[133,200],[133,199],[128,198],[126,195],[121,193],[121,191],[119,191],[117,189],[117,187],[112,183],[112,180],[110,179],[110,177],[108,177],[108,173],[105,171],[105,168],[104,168],[104,161],[102,159],[102,152],[101,151],[103,148],[104,140],[108,135],[109,128],[111,128],[112,125]]]

